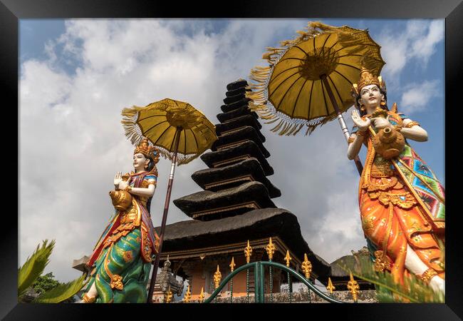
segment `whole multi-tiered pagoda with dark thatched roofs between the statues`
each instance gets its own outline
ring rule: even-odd
[[[313,266],[312,279],[326,280],[330,272],[328,263],[308,248],[296,215],[276,208],[271,200],[281,191],[267,178],[274,169],[267,161],[270,153],[263,144],[261,124],[256,113],[249,111],[246,86],[242,79],[227,85],[222,113],[217,115],[219,140],[211,152],[201,156],[208,168],[192,174],[203,191],[174,200],[193,220],[166,226],[161,260],[169,255],[175,274],[189,280],[192,300],[199,297],[202,288],[206,293],[213,292],[217,265],[223,280],[230,272],[232,257],[236,267],[246,263],[247,240],[253,248],[251,262],[268,260],[264,248],[272,238],[276,246],[274,261],[283,263],[289,250],[291,265],[298,270],[307,253]],[[156,230],[159,233],[160,228]],[[250,276],[252,292],[254,273]],[[266,277],[269,292],[269,273]],[[280,291],[281,282],[287,282],[286,272],[274,272],[273,292]],[[234,277],[233,293],[246,295],[246,272]]]

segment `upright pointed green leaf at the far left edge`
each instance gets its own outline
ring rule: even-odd
[[[48,244],[48,240],[44,240],[42,246],[37,245],[35,252],[30,258],[27,258],[26,263],[18,270],[18,297],[24,295],[27,288],[33,285],[33,282],[42,274],[50,258],[51,252],[55,246],[55,240]]]

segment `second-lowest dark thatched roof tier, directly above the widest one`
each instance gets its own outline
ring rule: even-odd
[[[197,220],[240,215],[256,208],[275,208],[269,191],[259,182],[243,183],[219,192],[204,190],[174,200],[177,208]]]

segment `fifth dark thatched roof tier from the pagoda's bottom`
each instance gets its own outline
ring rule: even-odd
[[[243,128],[239,128],[236,131],[231,131],[222,136],[219,136],[219,139],[214,141],[212,144],[211,150],[217,151],[224,148],[229,148],[231,146],[236,146],[243,141],[254,141],[254,143],[259,146],[259,149],[265,158],[270,156],[269,151],[267,151],[267,149],[264,147],[264,144],[259,137],[259,132],[256,131],[256,128],[251,126],[244,126]]]

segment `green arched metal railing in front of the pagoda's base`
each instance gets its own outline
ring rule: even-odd
[[[265,302],[265,273],[264,273],[264,266],[269,266],[269,271],[271,271],[271,267],[276,267],[279,268],[280,270],[288,272],[288,285],[290,286],[288,290],[291,291],[291,280],[289,275],[293,275],[293,277],[296,277],[299,281],[301,281],[304,285],[308,287],[309,290],[312,290],[316,295],[321,297],[323,300],[326,300],[331,303],[346,303],[340,300],[336,300],[333,297],[326,295],[325,293],[321,292],[321,290],[318,290],[317,287],[315,287],[310,280],[307,280],[306,277],[303,275],[299,274],[295,270],[291,269],[290,267],[286,267],[286,265],[272,262],[272,261],[259,261],[259,262],[252,262],[252,263],[246,263],[246,265],[243,265],[241,267],[238,267],[236,270],[231,272],[227,277],[222,280],[220,285],[212,292],[212,295],[207,298],[207,300],[204,300],[204,303],[210,303],[214,299],[217,299],[217,295],[219,292],[222,291],[225,285],[239,272],[246,270],[246,276],[249,275],[249,269],[254,269],[254,302],[256,303],[264,303]],[[249,289],[249,277],[246,277],[246,289]],[[270,280],[270,287],[272,287],[272,280]],[[247,294],[249,297],[249,290],[247,290]],[[272,289],[270,290],[270,293],[272,292]],[[231,292],[231,295],[233,295],[233,292]],[[273,295],[271,295],[271,300],[273,299]],[[231,299],[233,300],[233,299]],[[217,300],[214,300],[217,302]],[[231,301],[233,302],[233,301]],[[249,301],[248,301],[249,302]]]

